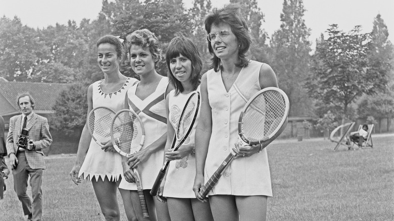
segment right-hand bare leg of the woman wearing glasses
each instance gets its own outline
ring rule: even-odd
[[[265,221],[267,196],[235,196],[240,221]]]

